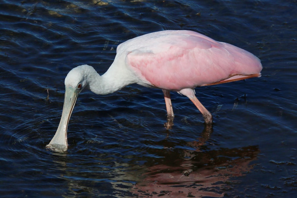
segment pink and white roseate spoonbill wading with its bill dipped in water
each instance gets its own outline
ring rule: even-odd
[[[206,124],[212,124],[212,115],[196,98],[194,88],[260,77],[261,70],[260,59],[252,53],[194,31],[166,30],[130,39],[117,47],[113,63],[102,76],[89,65],[68,73],[61,121],[47,148],[67,150],[69,118],[83,89],[104,95],[133,83],[160,88],[168,126],[174,117],[170,91],[176,91],[195,104]]]

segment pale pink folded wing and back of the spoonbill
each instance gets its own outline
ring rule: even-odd
[[[262,69],[253,54],[192,31],[147,34],[139,40],[129,40],[125,47],[131,49],[126,64],[139,80],[167,90],[195,88],[235,75],[259,74]]]

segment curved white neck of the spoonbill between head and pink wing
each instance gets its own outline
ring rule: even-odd
[[[95,70],[94,70],[95,71]],[[111,65],[110,68],[100,76],[96,71],[89,74],[89,88],[95,94],[105,95],[135,83],[127,69],[121,69]]]

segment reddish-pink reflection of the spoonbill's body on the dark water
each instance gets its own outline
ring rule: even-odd
[[[206,126],[197,141],[185,143],[192,149],[154,159],[155,165],[146,167],[144,178],[132,189],[134,196],[224,196],[225,183],[250,172],[260,151],[257,146],[208,150],[205,144],[211,132]]]

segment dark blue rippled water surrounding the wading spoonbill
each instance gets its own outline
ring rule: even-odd
[[[1,197],[295,197],[295,1],[1,1]],[[64,78],[89,64],[103,74],[119,43],[187,29],[244,48],[261,78],[196,88],[214,115],[211,134],[184,96],[130,85],[83,91],[69,149],[56,132]],[[47,99],[48,97],[48,99]]]

